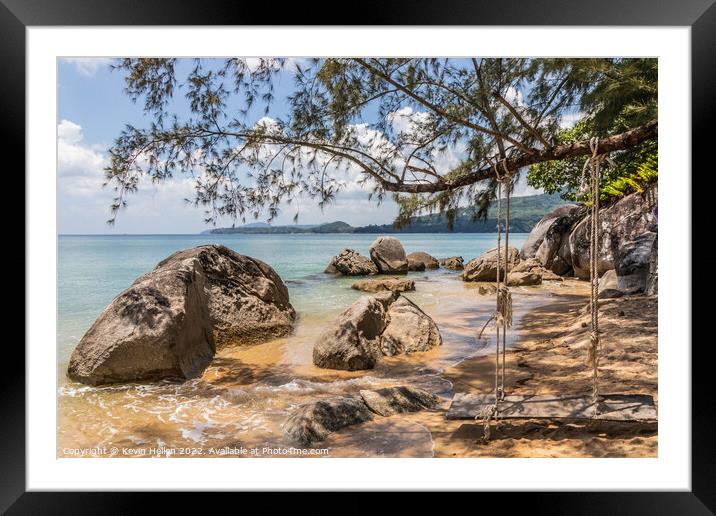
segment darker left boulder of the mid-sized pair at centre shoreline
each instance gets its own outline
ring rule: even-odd
[[[313,363],[326,369],[372,369],[380,354],[380,335],[388,322],[387,304],[385,297],[358,298],[318,338]]]

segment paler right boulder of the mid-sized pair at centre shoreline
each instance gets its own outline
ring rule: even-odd
[[[428,351],[442,344],[437,324],[409,299],[400,296],[387,315],[389,322],[380,337],[383,355]]]

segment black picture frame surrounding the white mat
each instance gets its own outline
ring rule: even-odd
[[[335,25],[336,3],[286,4],[272,10],[271,25]],[[318,14],[328,13],[328,14]],[[347,16],[347,14],[342,15]],[[17,159],[15,170],[25,170],[25,29],[30,26],[66,25],[265,25],[262,3],[190,0],[0,0],[0,113],[2,142]],[[716,113],[716,5],[714,0],[413,0],[411,2],[362,2],[350,15],[354,25],[610,25],[689,26],[692,59],[692,163],[713,176],[710,129]],[[663,121],[662,123],[667,123]],[[691,171],[689,171],[691,174]],[[20,176],[21,177],[21,176]],[[706,182],[712,177],[704,178]],[[18,181],[24,191],[24,181]],[[694,193],[707,195],[705,183]],[[709,185],[710,186],[710,185]],[[693,205],[697,205],[693,199]],[[696,217],[693,217],[696,222]],[[16,222],[14,222],[17,224]],[[692,233],[693,234],[693,233]],[[24,255],[23,255],[24,256]],[[16,259],[17,257],[15,257]],[[716,265],[710,259],[711,265]],[[26,274],[31,274],[26,271]],[[690,281],[690,278],[688,278]],[[668,302],[668,301],[666,301]],[[19,303],[18,303],[19,304]],[[708,303],[692,303],[692,320],[707,319]],[[30,308],[30,307],[28,307]],[[9,321],[6,322],[9,324]],[[690,329],[686,329],[690,330]],[[690,332],[687,331],[687,335]],[[549,514],[713,514],[716,511],[716,432],[712,403],[712,362],[708,360],[713,338],[695,342],[692,353],[692,489],[690,492],[642,493],[530,493],[510,494],[510,508],[528,504],[532,513]],[[691,342],[668,343],[688,349]],[[130,513],[145,506],[145,495],[133,493],[25,492],[25,355],[19,346],[6,343],[5,361],[14,364],[0,375],[0,510],[9,514]],[[7,348],[14,348],[14,351]],[[13,353],[15,356],[13,356]],[[293,496],[293,495],[292,495]],[[486,507],[480,493],[480,507]],[[499,494],[497,496],[500,496]],[[504,495],[503,495],[504,496]],[[475,500],[473,498],[473,500]],[[504,498],[503,498],[504,500]],[[497,501],[497,500],[495,500]],[[188,509],[178,494],[162,496],[163,510],[178,504]],[[474,501],[471,503],[474,507]],[[475,507],[476,510],[477,507]],[[512,511],[511,511],[512,512]]]

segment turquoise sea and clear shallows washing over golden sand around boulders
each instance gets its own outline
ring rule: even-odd
[[[292,409],[320,397],[356,394],[364,388],[411,384],[442,396],[452,385],[446,367],[494,350],[492,332],[476,333],[491,315],[492,296],[480,296],[458,273],[410,273],[416,291],[407,297],[436,321],[443,346],[426,353],[385,358],[370,371],[314,367],[311,353],[325,325],[361,295],[354,278],[322,273],[331,256],[346,247],[368,254],[376,235],[186,235],[61,236],[59,238],[58,455],[102,448],[99,456],[275,455],[294,446],[281,431]],[[526,235],[511,235],[520,247]],[[437,257],[461,255],[467,262],[495,245],[494,234],[399,235],[406,251]],[[201,378],[184,383],[89,387],[66,376],[72,349],[99,312],[140,274],[172,252],[222,243],[272,265],[286,282],[297,310],[295,331],[286,338],[220,351]],[[554,288],[559,288],[555,286]],[[518,289],[515,318],[548,291]],[[380,428],[350,439],[336,434],[316,448],[330,456],[430,456],[432,440],[420,425],[380,418]],[[384,438],[376,437],[384,435]],[[388,436],[392,436],[388,439]],[[117,451],[114,451],[116,448]],[[273,450],[273,451],[272,451]]]

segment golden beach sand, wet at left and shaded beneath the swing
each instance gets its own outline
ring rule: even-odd
[[[413,385],[440,396],[432,411],[402,414],[347,427],[311,448],[329,457],[603,457],[656,456],[652,427],[632,423],[576,425],[500,422],[483,442],[482,426],[448,421],[455,392],[491,392],[494,330],[477,333],[494,310],[494,297],[456,274],[417,275],[416,301],[437,322],[443,346],[426,353],[385,357],[369,371],[316,368],[316,337],[345,307],[320,316],[299,314],[293,335],[220,351],[201,378],[181,384],[93,388],[64,385],[59,407],[58,455],[66,447],[123,447],[134,455],[246,457],[241,448],[296,446],[281,425],[302,403],[357,395],[360,389]],[[346,285],[349,288],[349,285]],[[358,297],[360,293],[356,293]],[[507,354],[508,393],[591,392],[586,366],[589,320],[586,282],[548,282],[513,289],[514,327]],[[623,298],[602,304],[603,392],[638,392],[656,398],[656,299]],[[334,313],[335,312],[335,313]],[[619,313],[624,315],[620,316]],[[221,453],[206,450],[218,450]],[[203,450],[194,454],[192,450]],[[270,452],[260,453],[267,456]]]

